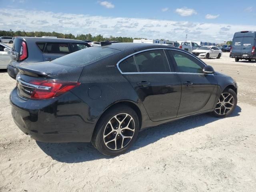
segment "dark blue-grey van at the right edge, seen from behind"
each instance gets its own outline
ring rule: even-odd
[[[256,31],[241,31],[234,34],[230,57],[238,62],[240,59],[256,60]]]

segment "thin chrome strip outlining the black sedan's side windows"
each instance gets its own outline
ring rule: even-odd
[[[152,48],[152,49],[145,49],[145,50],[141,50],[141,51],[138,51],[138,52],[135,52],[135,53],[132,53],[124,58],[122,58],[120,61],[117,62],[116,66],[118,68],[118,70],[120,71],[121,74],[140,74],[142,72],[133,72],[133,73],[130,73],[130,72],[122,72],[121,69],[119,68],[119,64],[120,62],[122,62],[123,60],[129,58],[130,56],[133,56],[135,54],[138,54],[138,53],[142,53],[142,52],[145,52],[145,51],[151,51],[151,50],[174,50],[174,51],[180,51],[180,52],[184,52],[186,54],[188,54],[186,51],[184,50],[179,50],[179,49],[172,49],[172,48]],[[191,54],[190,56],[196,58],[199,62],[201,62],[204,66],[206,66],[206,64],[204,62],[202,62],[200,59],[198,59],[196,56],[194,56],[193,54]],[[167,58],[168,59],[168,58]],[[136,61],[135,61],[136,62]],[[170,65],[169,65],[170,66]],[[147,74],[148,72],[143,72],[143,74]],[[175,73],[175,72],[149,72],[149,74],[151,73]],[[178,72],[177,72],[178,73]],[[186,74],[192,74],[192,73],[186,73]],[[197,74],[197,73],[196,73]],[[199,74],[204,74],[204,73],[199,73]]]

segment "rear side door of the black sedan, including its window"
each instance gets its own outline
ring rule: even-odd
[[[132,84],[152,121],[177,116],[181,84],[170,68],[163,49],[134,54],[119,63],[124,77]]]

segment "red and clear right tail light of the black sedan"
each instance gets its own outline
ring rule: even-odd
[[[80,85],[79,82],[54,80],[32,80],[29,83],[37,85],[37,88],[31,94],[31,98],[38,100],[54,98]]]

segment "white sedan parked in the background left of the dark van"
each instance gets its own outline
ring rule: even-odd
[[[217,58],[219,59],[222,56],[222,50],[216,46],[202,46],[196,50],[192,51],[192,54],[200,58]]]

